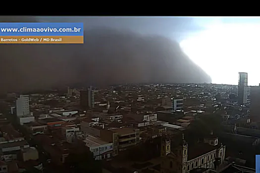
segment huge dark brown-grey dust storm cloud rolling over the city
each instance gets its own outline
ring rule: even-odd
[[[6,19],[0,21],[6,22]],[[19,18],[8,21],[36,20]],[[75,83],[211,82],[210,77],[181,51],[178,43],[162,36],[107,27],[86,29],[84,44],[1,45],[1,90]]]

